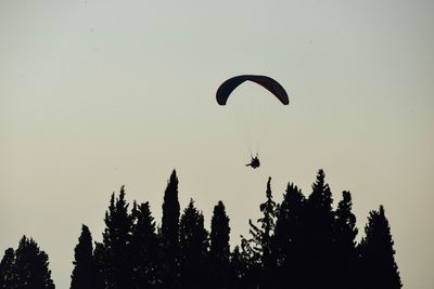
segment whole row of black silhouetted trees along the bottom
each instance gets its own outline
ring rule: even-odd
[[[74,250],[71,289],[139,288],[401,288],[391,227],[383,206],[369,212],[365,235],[343,192],[333,209],[331,189],[319,170],[311,193],[289,183],[277,203],[271,178],[260,218],[248,220],[248,236],[230,248],[230,219],[222,201],[214,207],[210,231],[191,199],[181,212],[174,170],[157,225],[149,202],[126,201],[125,188],[111,196],[102,241],[86,225]],[[48,255],[23,236],[0,263],[0,288],[54,288]]]

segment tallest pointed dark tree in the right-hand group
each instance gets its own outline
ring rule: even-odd
[[[306,258],[310,260],[307,287],[334,288],[335,262],[333,244],[334,214],[332,193],[326,183],[323,170],[319,170],[307,199]]]

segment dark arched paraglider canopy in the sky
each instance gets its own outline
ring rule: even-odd
[[[275,79],[268,76],[255,76],[255,75],[242,75],[229,78],[226,80],[217,90],[216,98],[219,105],[226,105],[226,102],[229,98],[229,95],[232,93],[234,89],[238,88],[244,81],[253,81],[266,88],[269,92],[271,92],[282,104],[290,104],[290,100],[288,97],[286,91],[277,82]]]

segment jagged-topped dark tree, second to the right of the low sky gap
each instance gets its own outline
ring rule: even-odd
[[[103,267],[100,268],[107,289],[129,289],[132,287],[131,231],[132,216],[128,213],[125,188],[120,187],[119,197],[112,194],[108,211],[105,212],[103,233]]]

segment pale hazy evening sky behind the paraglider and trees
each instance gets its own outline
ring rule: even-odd
[[[281,200],[290,181],[308,195],[323,168],[335,203],[353,193],[359,235],[385,206],[404,287],[431,289],[433,14],[421,0],[0,0],[1,254],[26,234],[68,288],[81,224],[101,240],[123,184],[159,223],[174,168],[181,208],[192,197],[209,226],[221,199],[234,245],[269,175]],[[259,101],[257,171],[231,117],[255,88],[215,102],[238,74],[291,97]]]

